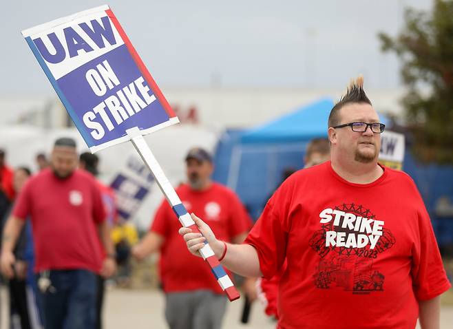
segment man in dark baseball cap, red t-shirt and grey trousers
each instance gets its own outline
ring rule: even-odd
[[[211,181],[213,164],[204,149],[194,148],[186,157],[187,184],[176,192],[187,211],[202,213],[216,235],[241,243],[251,229],[251,219],[238,196]],[[160,251],[160,280],[166,295],[165,317],[171,329],[220,328],[226,300],[211,268],[193,257],[178,235],[180,223],[166,200],[158,208],[149,233],[133,248],[143,259]]]

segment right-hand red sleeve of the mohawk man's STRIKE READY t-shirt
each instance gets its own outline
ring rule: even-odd
[[[412,264],[412,285],[419,300],[428,300],[441,295],[451,287],[447,279],[430,217],[417,191],[421,204],[418,215],[419,242],[415,244]]]

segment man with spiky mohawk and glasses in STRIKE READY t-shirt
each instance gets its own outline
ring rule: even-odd
[[[244,244],[227,244],[192,214],[189,251],[207,240],[222,264],[279,286],[278,328],[439,328],[450,288],[430,217],[412,179],[377,162],[385,126],[363,89],[349,85],[328,118],[328,162],[294,173]]]

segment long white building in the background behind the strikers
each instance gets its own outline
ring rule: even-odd
[[[162,92],[182,122],[198,119],[204,127],[253,127],[318,98],[339,98],[341,89],[164,87]],[[402,89],[368,89],[382,113],[401,115]],[[0,125],[27,123],[45,129],[68,127],[71,120],[56,95],[0,96]],[[189,120],[187,120],[189,116]]]

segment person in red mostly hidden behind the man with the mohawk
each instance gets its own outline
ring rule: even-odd
[[[314,138],[308,142],[304,156],[304,168],[320,165],[322,162],[326,162],[329,159],[330,146],[327,138]],[[286,176],[285,179],[288,177],[289,176]],[[286,260],[282,268],[280,268],[271,279],[260,277],[257,279],[256,283],[258,299],[264,306],[264,312],[266,312],[266,315],[274,317],[275,319],[278,319],[278,285],[285,270]]]

